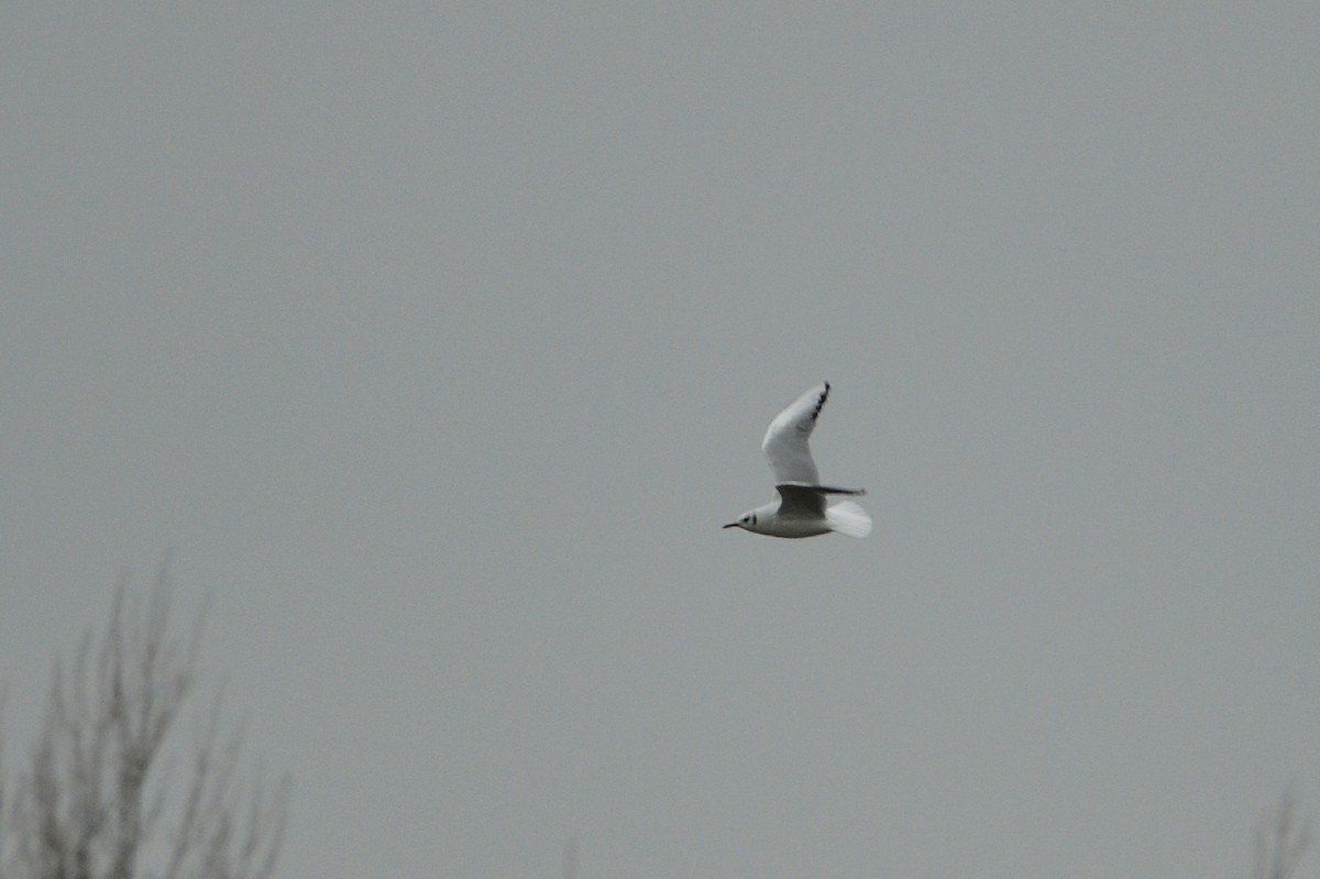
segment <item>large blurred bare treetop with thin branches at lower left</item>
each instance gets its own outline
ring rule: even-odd
[[[219,694],[193,744],[186,787],[165,765],[170,732],[197,688],[202,635],[172,627],[162,564],[145,603],[117,585],[99,636],[54,667],[46,718],[26,772],[0,773],[0,875],[7,879],[267,879],[288,783],[240,791],[240,732],[222,735]],[[3,767],[0,767],[3,768]],[[168,830],[165,814],[177,814]],[[156,867],[145,861],[160,862]]]

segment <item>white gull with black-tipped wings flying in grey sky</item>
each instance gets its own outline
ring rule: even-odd
[[[833,488],[820,484],[816,462],[807,441],[829,397],[822,381],[775,416],[760,441],[770,469],[775,471],[779,500],[748,509],[725,528],[742,528],[770,537],[814,537],[837,531],[849,537],[871,533],[871,517],[861,505],[842,500],[825,505],[825,495],[865,495],[865,488]]]

